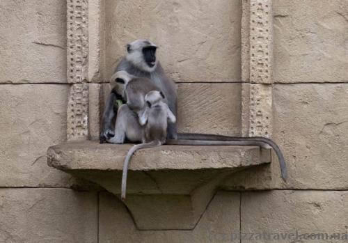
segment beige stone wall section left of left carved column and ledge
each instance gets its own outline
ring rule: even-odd
[[[66,139],[65,23],[65,1],[0,1],[0,242],[97,242],[97,193],[46,162]]]

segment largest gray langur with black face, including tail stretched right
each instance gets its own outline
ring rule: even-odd
[[[136,77],[149,78],[153,84],[159,86],[161,91],[164,93],[169,109],[173,112],[174,116],[176,116],[177,94],[175,83],[164,73],[163,68],[156,58],[156,49],[157,46],[149,40],[135,40],[134,42],[131,42],[127,45],[127,54],[118,64],[116,72],[125,70],[129,74]],[[113,120],[113,116],[115,116],[115,111],[113,111],[113,103],[118,99],[122,99],[122,96],[116,91],[112,91],[109,95],[106,109],[104,111],[103,130],[100,136],[101,143],[114,135],[111,120]],[[276,145],[276,143],[274,143],[274,141],[271,141],[271,139],[266,139],[263,137],[222,136],[214,134],[177,134],[176,124],[168,124],[168,135],[166,142],[168,144],[214,145],[214,143],[209,143],[209,141],[215,141],[215,144],[219,142],[221,145],[228,145],[227,143],[223,143],[223,141],[234,142],[233,144],[235,145],[260,146],[263,144],[263,147],[267,144],[274,149],[276,155],[278,156],[282,178],[284,180],[287,178],[287,169],[283,154],[280,148]]]

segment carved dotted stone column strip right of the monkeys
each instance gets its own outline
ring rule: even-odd
[[[271,136],[273,45],[271,0],[244,0],[242,17],[242,133]]]

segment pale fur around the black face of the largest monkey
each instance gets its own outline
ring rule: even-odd
[[[143,47],[157,47],[155,43],[151,42],[150,40],[139,39],[139,40],[134,40],[134,42],[131,42],[128,45],[129,45],[130,53],[127,52],[126,54],[127,61],[135,65],[136,68],[139,68],[140,70],[143,70],[145,72],[153,72],[156,69],[157,58],[155,61],[155,65],[152,68],[150,68],[148,64],[146,64],[143,58]]]

